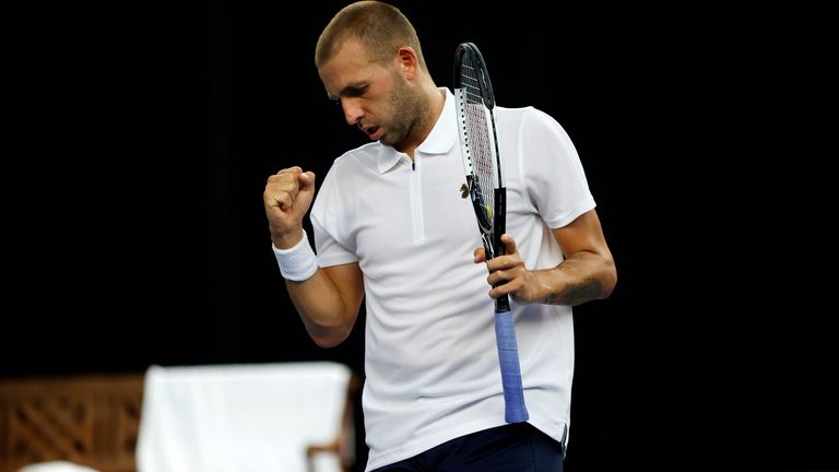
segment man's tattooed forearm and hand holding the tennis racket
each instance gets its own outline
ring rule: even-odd
[[[605,298],[617,283],[617,271],[600,219],[590,210],[567,226],[553,229],[565,260],[552,269],[529,271],[510,235],[501,236],[507,256],[487,262],[489,296],[509,294],[519,304],[580,305]],[[484,262],[482,248],[475,262]]]

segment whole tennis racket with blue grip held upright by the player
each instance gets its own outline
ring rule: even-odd
[[[484,58],[472,43],[459,45],[454,54],[454,97],[468,194],[489,260],[505,253],[501,235],[506,232],[507,189],[495,132],[493,85]],[[505,420],[507,423],[525,422],[529,416],[521,387],[519,349],[507,295],[495,299],[495,339],[501,367]]]

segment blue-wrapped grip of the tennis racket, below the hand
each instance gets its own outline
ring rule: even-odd
[[[512,311],[506,310],[495,314],[495,340],[498,346],[498,362],[501,366],[504,418],[507,423],[523,423],[530,416],[524,405],[524,391],[521,387],[519,347],[516,343]]]

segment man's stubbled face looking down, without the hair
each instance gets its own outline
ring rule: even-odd
[[[347,40],[318,73],[329,97],[340,102],[346,122],[370,140],[400,149],[411,138],[425,107],[401,75],[395,54],[391,63],[373,62],[357,42]]]

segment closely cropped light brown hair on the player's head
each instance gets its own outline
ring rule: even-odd
[[[378,63],[391,60],[399,48],[410,46],[416,52],[420,66],[428,70],[414,26],[391,4],[358,1],[341,9],[318,38],[315,66],[320,68],[347,39],[358,40],[370,59]]]

